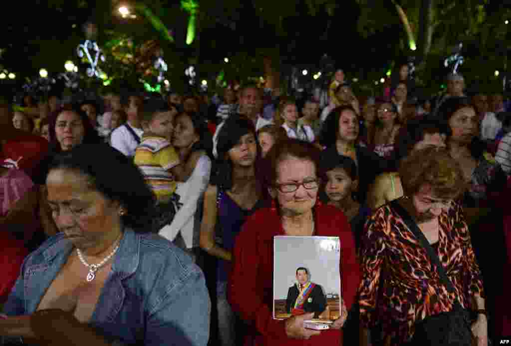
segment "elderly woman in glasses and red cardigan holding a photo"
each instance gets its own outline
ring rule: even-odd
[[[311,144],[290,140],[275,145],[266,158],[265,178],[274,205],[245,222],[236,239],[229,282],[229,303],[250,326],[247,345],[342,344],[341,328],[355,301],[360,271],[346,216],[316,202],[318,157]],[[340,238],[343,303],[330,330],[305,329],[304,320],[313,313],[273,319],[273,237],[284,235]]]

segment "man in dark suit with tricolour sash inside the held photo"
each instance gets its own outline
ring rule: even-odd
[[[323,289],[309,281],[309,271],[304,267],[296,269],[296,281],[288,290],[286,311],[292,315],[314,312],[314,318],[318,318],[327,307]]]

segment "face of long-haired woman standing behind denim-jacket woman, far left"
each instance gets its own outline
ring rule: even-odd
[[[63,151],[83,142],[85,127],[80,116],[71,110],[61,112],[55,123],[55,136]]]

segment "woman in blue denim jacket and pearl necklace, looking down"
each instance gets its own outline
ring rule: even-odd
[[[129,158],[79,145],[55,158],[47,187],[61,232],[22,265],[0,335],[52,345],[207,343],[203,274],[170,241],[144,234],[154,197]]]

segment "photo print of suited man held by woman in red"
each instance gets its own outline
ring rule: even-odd
[[[317,322],[339,318],[339,238],[276,236],[273,246],[273,318],[308,312]]]

